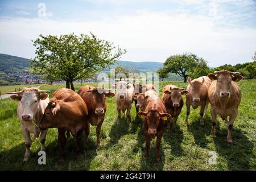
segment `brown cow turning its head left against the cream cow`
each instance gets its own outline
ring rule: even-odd
[[[58,99],[59,98],[59,99]],[[53,93],[53,98],[44,111],[43,118],[40,122],[40,129],[57,127],[59,130],[60,140],[60,159],[59,162],[64,162],[64,149],[67,143],[65,137],[65,129],[71,131],[76,137],[76,153],[81,152],[81,137],[84,126],[88,122],[87,106],[79,96],[71,89],[58,89]]]

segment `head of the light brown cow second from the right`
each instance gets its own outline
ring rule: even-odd
[[[199,80],[191,81],[191,78],[188,77],[188,82],[189,82],[189,85],[191,85],[191,90],[189,94],[191,94],[192,96],[192,101],[200,102],[200,93],[201,93],[202,85],[204,84],[204,78],[202,81],[199,81]]]

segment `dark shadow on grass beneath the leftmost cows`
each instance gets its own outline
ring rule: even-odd
[[[1,170],[89,170],[90,163],[96,156],[97,146],[95,142],[89,140],[89,147],[82,148],[82,155],[76,155],[75,138],[67,140],[65,147],[64,164],[59,164],[60,144],[57,139],[51,143],[46,140],[46,165],[38,164],[39,142],[36,142],[36,151],[31,151],[30,159],[26,164],[22,164],[25,153],[25,144],[21,143],[10,150],[0,152]],[[83,146],[83,145],[82,145]]]

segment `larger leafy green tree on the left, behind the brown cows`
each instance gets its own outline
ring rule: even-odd
[[[32,72],[66,81],[66,88],[75,90],[73,81],[90,77],[114,64],[126,50],[95,35],[39,35],[34,41],[36,57],[30,60]]]

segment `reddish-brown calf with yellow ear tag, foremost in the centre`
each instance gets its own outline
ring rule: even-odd
[[[171,115],[166,113],[163,100],[158,97],[148,100],[145,111],[138,112],[138,115],[143,118],[143,131],[146,137],[146,158],[148,158],[151,138],[156,137],[156,162],[159,162],[159,148],[164,133],[164,121],[170,118]]]

